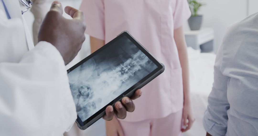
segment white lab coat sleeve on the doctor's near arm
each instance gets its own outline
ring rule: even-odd
[[[41,41],[19,63],[0,62],[0,135],[62,135],[76,120],[62,56]]]

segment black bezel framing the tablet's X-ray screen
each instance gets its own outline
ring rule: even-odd
[[[88,57],[84,58],[82,61],[77,63],[76,65],[72,66],[70,69],[67,70],[67,73],[71,72],[72,70],[76,69],[78,66],[82,65],[84,62],[101,52],[102,50],[106,49],[108,46],[110,46],[112,43],[114,43],[116,40],[120,39],[121,37],[126,36],[128,39],[132,41],[134,45],[136,45],[155,65],[157,65],[157,69],[152,71],[150,74],[148,74],[146,77],[144,77],[142,80],[134,84],[131,88],[127,89],[123,94],[119,95],[117,98],[112,100],[109,104],[101,108],[98,112],[93,114],[91,117],[89,117],[87,120],[82,121],[80,117],[77,115],[77,122],[81,125],[84,126],[91,120],[93,120],[95,117],[97,117],[99,114],[101,114],[103,111],[105,111],[106,107],[109,105],[114,105],[117,101],[119,101],[121,98],[123,98],[126,94],[130,93],[133,89],[138,87],[140,84],[142,84],[144,81],[148,80],[152,75],[155,73],[159,72],[161,69],[164,69],[164,66],[159,63],[150,53],[149,51],[144,48],[138,41],[136,41],[127,31],[122,32],[120,35],[118,35],[115,39],[111,40],[109,43],[101,47],[100,49],[96,50],[94,53],[89,55]]]

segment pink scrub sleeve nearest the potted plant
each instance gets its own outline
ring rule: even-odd
[[[176,5],[173,13],[174,29],[183,26],[184,22],[191,16],[191,11],[187,0],[176,0]]]

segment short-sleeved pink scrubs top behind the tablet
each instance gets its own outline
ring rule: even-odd
[[[108,43],[129,31],[165,65],[165,71],[142,88],[135,111],[125,121],[162,118],[183,108],[182,69],[174,40],[174,29],[183,25],[191,12],[187,0],[83,0],[87,29],[92,37]]]

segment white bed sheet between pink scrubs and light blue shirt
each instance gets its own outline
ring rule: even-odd
[[[216,55],[213,53],[200,53],[188,47],[189,73],[190,73],[190,97],[193,106],[193,113],[196,117],[190,130],[184,135],[200,136],[206,135],[202,119],[208,106],[208,95],[213,84],[213,72]]]

